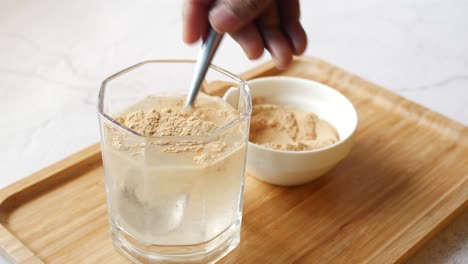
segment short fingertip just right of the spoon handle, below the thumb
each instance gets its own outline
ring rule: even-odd
[[[255,60],[262,56],[265,46],[262,36],[255,24],[248,24],[239,31],[231,34],[231,37],[239,43],[249,59]]]

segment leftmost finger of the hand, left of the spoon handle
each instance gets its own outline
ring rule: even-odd
[[[206,35],[208,11],[214,0],[185,0],[183,7],[183,40],[187,44]]]

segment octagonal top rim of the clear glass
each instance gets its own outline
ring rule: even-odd
[[[234,73],[231,73],[230,71],[228,70],[225,70],[221,67],[218,67],[214,64],[211,64],[209,67],[221,74],[224,74],[226,75],[227,77],[233,79],[234,81],[236,81],[238,84],[239,84],[239,89],[241,91],[243,91],[246,95],[247,95],[247,98],[250,99],[248,101],[250,101],[250,103],[247,104],[247,111],[244,113],[244,114],[241,114],[238,118],[228,122],[227,124],[223,125],[222,127],[219,127],[213,131],[211,131],[210,133],[208,133],[207,135],[203,135],[203,136],[200,136],[200,135],[193,135],[193,136],[145,136],[145,135],[142,135],[126,126],[124,126],[123,124],[121,124],[120,122],[118,122],[117,120],[115,120],[113,117],[109,116],[108,114],[106,114],[104,112],[104,97],[105,97],[105,90],[106,90],[106,85],[108,82],[118,78],[119,76],[121,75],[124,75],[132,70],[135,70],[137,68],[140,68],[146,64],[158,64],[158,63],[186,63],[186,64],[195,64],[197,61],[196,60],[171,60],[171,59],[162,59],[162,60],[146,60],[146,61],[142,61],[142,62],[139,62],[137,64],[134,64],[130,67],[127,67],[117,73],[114,73],[112,74],[111,76],[107,77],[106,79],[104,79],[104,81],[102,81],[101,83],[101,87],[99,89],[99,95],[98,95],[98,105],[97,105],[97,108],[98,108],[98,115],[100,118],[103,118],[105,119],[107,122],[110,122],[111,124],[113,124],[114,126],[117,126],[117,128],[120,128],[120,129],[123,129],[124,131],[136,136],[136,137],[141,137],[141,138],[145,138],[145,139],[151,139],[151,140],[206,140],[206,139],[209,139],[209,138],[213,138],[213,137],[216,137],[216,136],[219,136],[221,135],[225,130],[228,130],[229,128],[235,126],[236,124],[244,121],[245,119],[249,118],[250,117],[250,114],[252,112],[252,103],[251,103],[251,94],[250,94],[250,91],[249,91],[249,87],[247,85],[247,81],[245,81],[244,79],[242,79],[241,77],[239,77],[238,75],[234,74]]]

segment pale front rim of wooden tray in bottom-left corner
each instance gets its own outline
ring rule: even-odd
[[[3,225],[0,225],[0,255],[9,263],[44,263],[8,232]]]

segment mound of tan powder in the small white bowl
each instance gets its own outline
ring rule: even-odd
[[[334,144],[338,132],[325,120],[292,106],[254,100],[250,141],[280,150],[313,150]]]

